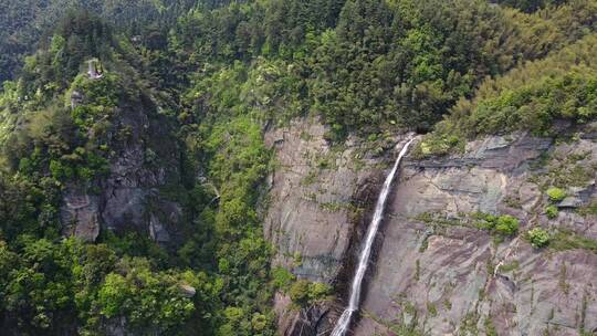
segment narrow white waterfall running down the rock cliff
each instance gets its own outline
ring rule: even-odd
[[[355,277],[353,279],[353,285],[350,286],[350,301],[348,302],[348,307],[346,307],[344,313],[342,313],[341,318],[332,330],[332,336],[344,336],[350,325],[350,318],[353,317],[353,313],[358,309],[358,304],[360,300],[360,285],[363,284],[365,272],[367,271],[367,265],[369,263],[369,256],[371,254],[371,245],[375,240],[375,235],[377,234],[379,223],[384,218],[386,199],[388,198],[391,182],[394,180],[394,176],[396,175],[396,170],[398,170],[398,166],[400,165],[402,157],[407,154],[408,147],[410,146],[412,140],[413,139],[408,140],[402,147],[402,150],[400,150],[400,154],[398,155],[398,158],[394,164],[394,168],[391,168],[390,174],[386,177],[386,181],[384,182],[384,187],[381,188],[381,192],[379,193],[379,198],[377,199],[377,203],[375,206],[374,218],[371,220],[371,223],[369,224],[369,228],[367,229],[367,239],[365,240],[365,245],[363,246],[363,251],[360,251],[360,255],[358,258],[358,267],[356,270]]]

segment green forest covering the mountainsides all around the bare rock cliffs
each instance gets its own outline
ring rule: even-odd
[[[596,117],[597,3],[502,2],[2,1],[0,81],[14,81],[0,95],[0,326],[274,335],[275,291],[300,309],[332,288],[271,267],[264,129],[306,115],[336,144],[433,129],[418,149],[429,155]],[[134,139],[123,120],[135,111],[159,134]],[[132,141],[144,165],[176,158],[158,192],[180,204],[180,237],[63,238],[66,188],[101,191]],[[475,221],[496,237],[519,230],[510,216]]]

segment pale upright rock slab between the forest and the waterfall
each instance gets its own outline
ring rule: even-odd
[[[266,134],[279,168],[270,178],[272,200],[265,237],[275,243],[274,263],[312,281],[333,279],[348,248],[355,186],[371,171],[356,171],[354,148],[333,151],[317,123],[296,122]]]

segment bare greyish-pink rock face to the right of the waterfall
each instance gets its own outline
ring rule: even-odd
[[[564,148],[563,148],[564,147]],[[595,143],[552,145],[525,134],[488,137],[465,154],[409,160],[387,209],[383,246],[354,335],[394,335],[410,326],[426,335],[579,335],[597,328],[597,253],[589,249],[537,250],[523,238],[532,227],[593,237],[595,218],[574,208],[596,198],[594,181],[567,188],[556,220],[544,216],[543,182],[558,153],[597,153]],[[542,161],[548,154],[552,160]],[[595,164],[586,154],[589,167]],[[585,160],[587,159],[585,158]],[[540,167],[537,162],[543,162]],[[555,166],[554,166],[555,165]],[[543,171],[545,170],[545,171]],[[595,176],[595,170],[591,170]],[[535,181],[535,182],[532,182]],[[541,181],[541,182],[537,182]],[[519,235],[495,234],[459,222],[465,213],[516,217]],[[441,214],[446,222],[421,217]],[[426,234],[426,232],[433,232]],[[415,314],[413,314],[415,312]],[[408,319],[409,316],[416,316]],[[546,333],[546,334],[545,334]]]

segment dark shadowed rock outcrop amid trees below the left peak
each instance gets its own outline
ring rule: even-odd
[[[75,93],[72,104],[82,104],[84,93]],[[176,234],[181,208],[159,192],[178,182],[176,140],[150,97],[136,103],[121,106],[111,122],[109,174],[93,186],[66,187],[61,208],[64,234],[94,241],[101,229],[133,229],[160,243]]]

